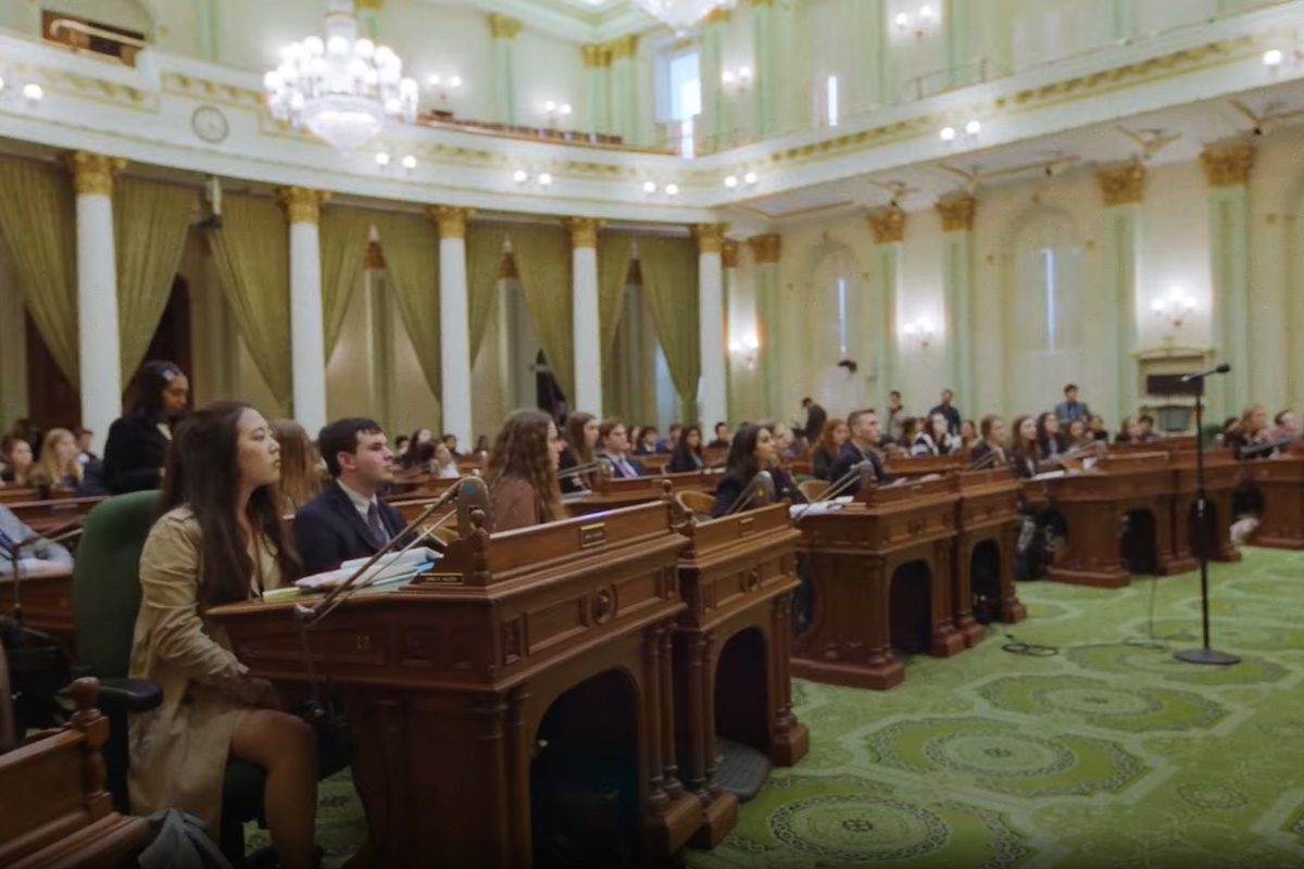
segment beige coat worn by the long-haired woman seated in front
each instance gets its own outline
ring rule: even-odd
[[[201,541],[194,513],[179,507],[155,522],[141,552],[130,675],[156,681],[163,704],[132,715],[128,786],[133,814],[185,809],[203,818],[215,839],[231,735],[261,689],[226,632],[200,618]],[[278,588],[270,545],[259,546],[257,558],[263,588]]]

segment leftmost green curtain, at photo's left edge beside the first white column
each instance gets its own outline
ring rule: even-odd
[[[81,370],[72,176],[43,163],[0,158],[0,238],[8,244],[37,331],[76,387]]]

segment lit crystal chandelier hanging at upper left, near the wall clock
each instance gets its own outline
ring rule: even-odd
[[[366,145],[387,119],[416,120],[416,81],[403,78],[403,61],[390,48],[357,38],[352,0],[330,0],[326,38],[286,46],[262,83],[273,117],[340,150]]]

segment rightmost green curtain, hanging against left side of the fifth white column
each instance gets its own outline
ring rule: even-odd
[[[682,418],[696,420],[702,375],[696,245],[691,238],[639,236],[639,268],[661,352],[683,404]]]

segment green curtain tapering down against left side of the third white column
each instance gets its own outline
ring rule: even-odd
[[[374,224],[399,317],[412,339],[425,382],[442,404],[439,233],[424,215],[378,214]]]

